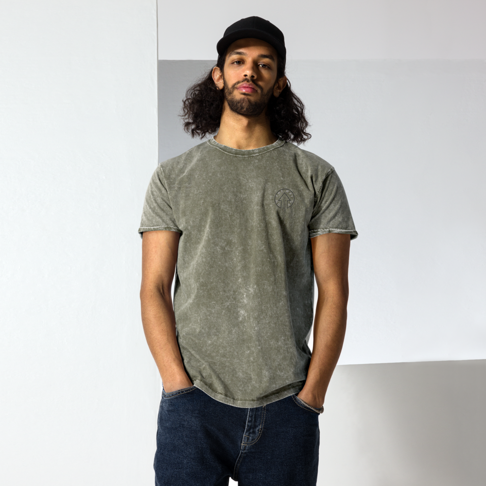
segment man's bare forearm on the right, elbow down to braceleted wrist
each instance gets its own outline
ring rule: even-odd
[[[324,403],[332,373],[341,354],[346,321],[345,292],[330,293],[327,297],[319,296],[314,319],[312,358],[302,390],[308,399],[301,396],[304,401],[309,403],[311,400],[311,404],[318,404],[318,407]]]

